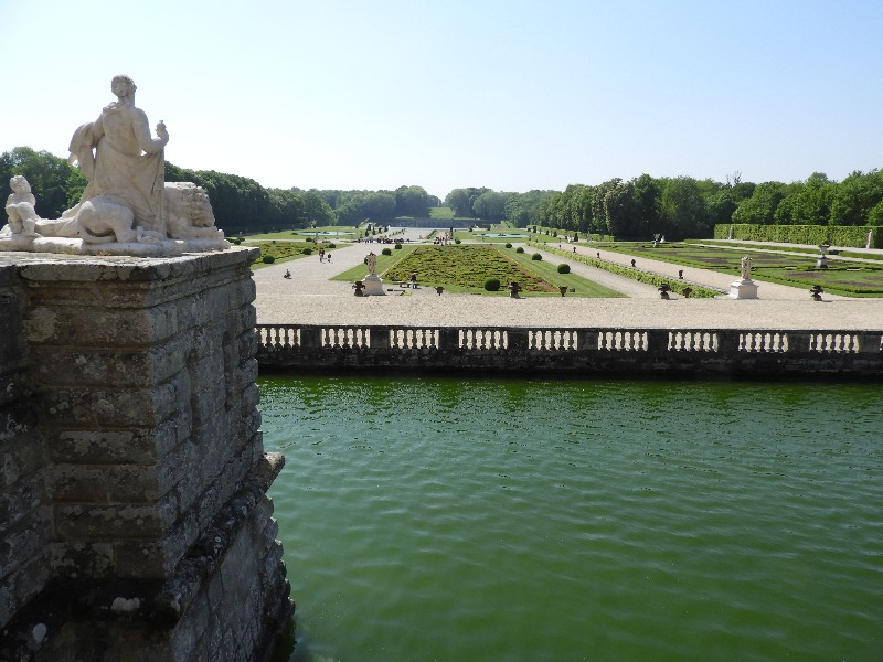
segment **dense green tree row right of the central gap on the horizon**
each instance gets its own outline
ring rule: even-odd
[[[455,189],[446,203],[459,216],[623,238],[710,237],[715,225],[730,223],[883,225],[883,172],[853,172],[842,182],[817,172],[790,184],[743,182],[740,173],[725,182],[642,174],[564,191]]]

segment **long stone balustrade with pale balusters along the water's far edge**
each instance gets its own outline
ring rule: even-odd
[[[262,369],[883,374],[883,332],[258,324]]]

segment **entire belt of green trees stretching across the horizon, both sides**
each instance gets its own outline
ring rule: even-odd
[[[76,204],[86,180],[66,160],[28,147],[0,154],[0,182],[23,174],[38,201],[38,214],[55,218]],[[442,201],[422,186],[395,191],[304,191],[265,189],[255,180],[166,163],[166,181],[189,181],[209,193],[217,226],[228,235],[311,225],[358,225],[400,216],[427,217]],[[507,193],[486,188],[454,189],[444,203],[458,217],[509,221],[517,227],[560,229],[648,238],[711,237],[716,224],[883,225],[883,172],[853,172],[841,182],[823,173],[785,184],[725,182],[690,177],[642,174],[602,184],[572,184],[564,191]]]

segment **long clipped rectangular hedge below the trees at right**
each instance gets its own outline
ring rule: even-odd
[[[883,232],[880,227],[871,225],[758,225],[755,223],[721,223],[714,226],[715,239],[730,238],[730,228],[733,228],[733,238],[748,242],[778,242],[789,244],[809,244],[818,246],[849,246],[864,248],[868,243],[868,233],[871,236],[873,248],[883,248]]]

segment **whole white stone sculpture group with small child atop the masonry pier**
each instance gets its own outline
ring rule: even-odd
[[[228,248],[205,191],[164,183],[169,134],[160,120],[151,137],[147,115],[135,106],[135,82],[115,76],[110,89],[117,100],[71,139],[70,160],[88,182],[79,203],[60,218],[41,218],[28,181],[13,177],[0,250],[168,256]]]

